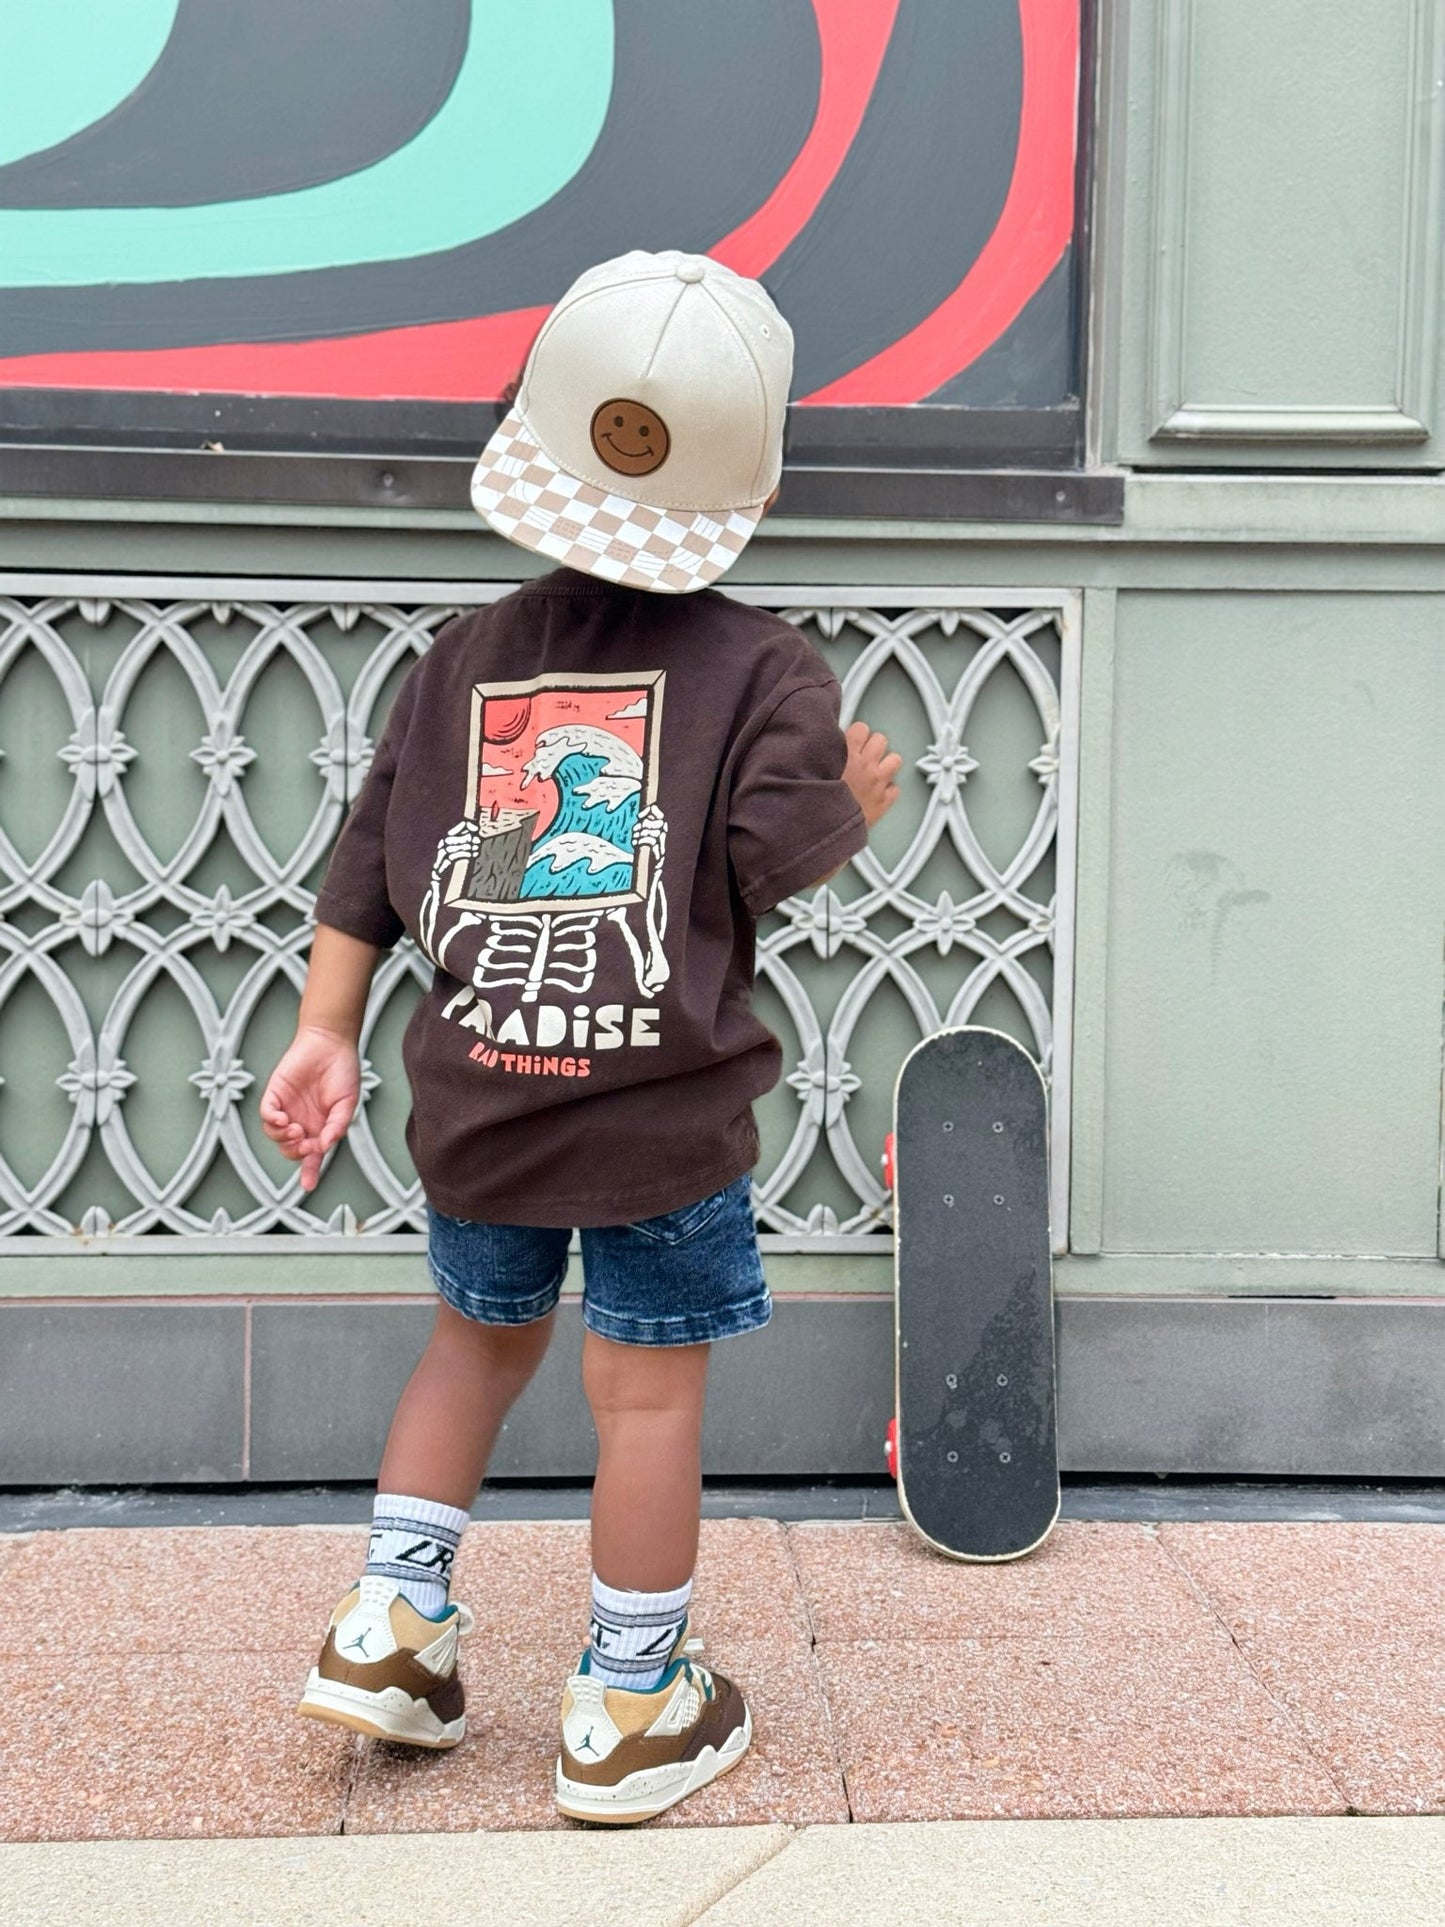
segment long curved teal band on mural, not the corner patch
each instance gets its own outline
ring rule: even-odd
[[[576,173],[611,91],[611,0],[474,0],[457,85],[399,152],[343,181],[218,206],[0,208],[0,281],[189,281],[459,247]]]

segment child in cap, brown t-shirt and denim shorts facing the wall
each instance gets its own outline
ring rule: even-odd
[[[582,1233],[597,1426],[591,1640],[557,1806],[638,1821],[734,1765],[742,1694],[697,1665],[709,1345],[767,1324],[751,1102],[755,919],[834,875],[900,757],[780,617],[705,590],[776,497],[792,333],[694,254],[584,274],[532,347],[472,501],[563,567],[451,622],[407,676],[316,902],[297,1037],[260,1114],[316,1185],[358,1100],[383,948],[435,965],[405,1039],[437,1322],[401,1395],[366,1572],[301,1711],[414,1746],[466,1730],[447,1576],[547,1349]]]

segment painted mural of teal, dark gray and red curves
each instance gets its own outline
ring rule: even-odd
[[[0,389],[487,401],[680,247],[767,283],[805,405],[1071,391],[1079,0],[6,12]]]

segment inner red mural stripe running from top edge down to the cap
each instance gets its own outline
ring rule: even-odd
[[[794,164],[755,214],[709,249],[736,274],[759,276],[817,214],[863,123],[898,0],[813,0],[823,73],[817,114]]]

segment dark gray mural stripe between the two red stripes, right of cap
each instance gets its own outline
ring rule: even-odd
[[[857,139],[767,270],[798,331],[794,395],[906,335],[969,272],[1013,175],[1017,0],[904,0]]]

